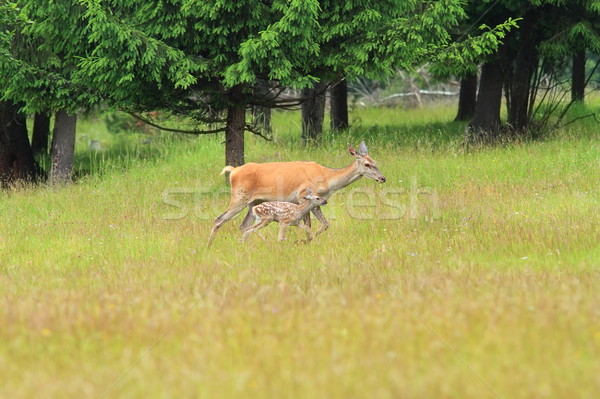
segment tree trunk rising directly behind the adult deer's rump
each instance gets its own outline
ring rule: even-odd
[[[243,86],[231,89],[227,108],[227,126],[225,130],[225,164],[241,166],[244,164],[244,130],[246,127],[246,106],[243,101]]]

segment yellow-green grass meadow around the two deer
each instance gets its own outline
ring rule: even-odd
[[[597,125],[465,151],[453,112],[357,109],[317,148],[276,114],[247,161],[364,139],[388,181],[309,245],[240,216],[210,250],[222,137],[80,121],[77,183],[0,193],[0,398],[598,397]]]

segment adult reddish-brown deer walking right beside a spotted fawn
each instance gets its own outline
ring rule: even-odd
[[[299,199],[306,195],[306,188],[312,187],[315,194],[329,199],[333,193],[365,176],[376,182],[384,183],[385,176],[377,169],[376,162],[369,157],[369,150],[363,141],[359,151],[348,145],[348,151],[355,160],[345,168],[335,169],[321,166],[316,162],[272,162],[247,163],[234,168],[226,166],[221,174],[230,172],[231,199],[227,210],[215,219],[210,232],[208,246],[212,244],[217,231],[248,206],[242,226],[242,231],[252,223],[252,207],[265,201],[288,201],[298,204]],[[323,216],[320,207],[311,211],[321,222],[317,235],[327,230],[329,222]],[[305,222],[309,222],[309,215]]]

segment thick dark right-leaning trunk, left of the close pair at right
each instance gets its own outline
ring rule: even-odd
[[[466,141],[468,143],[478,144],[498,138],[503,82],[504,76],[500,60],[483,64],[475,113],[467,129]]]

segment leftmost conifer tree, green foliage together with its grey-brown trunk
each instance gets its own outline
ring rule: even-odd
[[[90,49],[84,9],[65,0],[23,0],[12,2],[11,10],[16,18],[8,25],[11,37],[0,54],[0,93],[31,113],[70,114],[65,120],[68,123],[55,124],[56,145],[52,146],[49,173],[51,177],[60,176],[52,182],[66,182],[73,166],[74,136],[70,136],[75,134],[75,115],[100,101],[75,76],[78,54]],[[26,144],[29,152],[29,141]],[[54,170],[58,165],[60,171]]]

